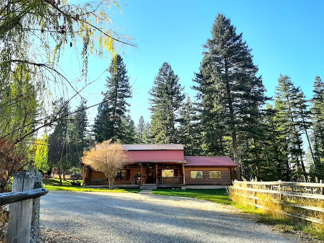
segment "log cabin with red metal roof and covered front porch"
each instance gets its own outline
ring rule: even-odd
[[[128,161],[115,178],[114,187],[209,189],[234,180],[236,164],[228,156],[184,156],[182,144],[121,144]],[[106,185],[102,172],[84,166],[85,186]]]

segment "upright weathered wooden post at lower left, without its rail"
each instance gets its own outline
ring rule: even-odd
[[[34,189],[34,177],[30,172],[14,174],[12,192]],[[33,199],[10,204],[7,243],[29,243]]]

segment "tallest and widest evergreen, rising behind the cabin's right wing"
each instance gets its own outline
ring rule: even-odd
[[[235,176],[240,179],[237,136],[242,132],[249,139],[256,137],[257,124],[261,115],[260,106],[267,99],[258,68],[242,33],[230,19],[218,14],[212,28],[212,38],[204,45],[204,58],[193,88],[202,109],[201,124],[211,129],[219,127],[216,138],[220,151],[224,138],[230,136],[234,161],[237,164]],[[212,130],[206,130],[208,134]]]

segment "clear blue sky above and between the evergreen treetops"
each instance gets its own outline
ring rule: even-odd
[[[307,98],[312,96],[316,75],[324,78],[324,1],[118,1],[123,11],[109,10],[112,27],[135,38],[137,48],[120,47],[133,89],[131,117],[150,120],[148,91],[163,62],[168,62],[185,92],[203,56],[202,45],[211,38],[218,13],[231,19],[237,33],[252,49],[267,95],[273,96],[281,74],[291,77]],[[120,27],[122,30],[119,30]],[[105,92],[104,70],[110,59],[93,57],[89,80],[96,80],[83,96],[99,103]],[[97,107],[89,109],[94,120]]]

